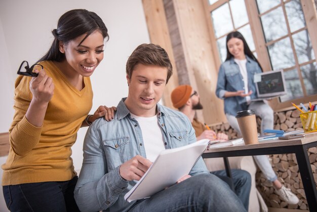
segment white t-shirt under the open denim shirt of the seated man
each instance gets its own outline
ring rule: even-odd
[[[154,162],[159,153],[165,150],[163,134],[157,116],[139,117],[131,114],[131,117],[137,120],[141,127],[146,158]]]

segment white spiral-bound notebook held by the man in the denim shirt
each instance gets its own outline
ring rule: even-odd
[[[143,199],[174,185],[191,168],[206,150],[209,139],[202,139],[179,148],[163,150],[138,183],[125,195],[131,202]]]

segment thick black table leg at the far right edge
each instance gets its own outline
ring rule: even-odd
[[[309,211],[317,211],[317,190],[312,175],[307,148],[298,147],[295,152]]]

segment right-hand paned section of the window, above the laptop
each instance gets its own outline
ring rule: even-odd
[[[315,56],[299,0],[257,0],[272,69],[284,69],[287,101],[317,93]]]

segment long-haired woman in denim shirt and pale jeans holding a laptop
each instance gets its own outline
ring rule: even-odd
[[[239,31],[230,32],[226,38],[227,58],[218,73],[216,95],[224,99],[224,112],[231,127],[241,135],[235,119],[236,112],[254,110],[262,119],[263,129],[273,128],[273,110],[264,101],[251,101],[257,98],[254,75],[262,72],[262,67],[252,54],[247,42]],[[278,180],[266,155],[253,156],[255,162],[271,181],[275,193],[290,204],[298,203],[298,198]]]

